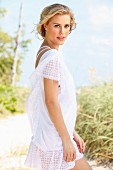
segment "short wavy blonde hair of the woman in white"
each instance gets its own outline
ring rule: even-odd
[[[40,22],[39,24],[37,24],[37,32],[38,34],[40,34],[43,38],[45,37],[45,28],[44,28],[44,24],[45,23],[49,23],[50,19],[57,15],[57,14],[69,14],[70,15],[70,32],[75,29],[76,27],[76,23],[75,23],[75,18],[74,18],[74,14],[72,12],[72,10],[67,7],[66,5],[62,5],[62,4],[53,4],[50,6],[45,7],[42,10],[42,13],[40,15]]]

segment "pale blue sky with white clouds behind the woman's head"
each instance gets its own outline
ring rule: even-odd
[[[8,13],[2,27],[9,34],[17,30],[20,0],[0,0]],[[28,85],[34,70],[35,56],[42,41],[31,33],[41,10],[53,3],[68,5],[75,14],[77,28],[61,47],[65,62],[76,86],[113,80],[113,1],[112,0],[24,0],[23,23],[26,38],[32,39],[22,63],[20,84]]]

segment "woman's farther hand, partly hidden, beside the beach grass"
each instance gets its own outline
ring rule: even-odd
[[[76,142],[79,152],[83,153],[85,151],[85,143],[84,140],[74,131],[73,133],[73,140]]]

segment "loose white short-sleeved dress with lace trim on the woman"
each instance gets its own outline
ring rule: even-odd
[[[27,99],[27,113],[32,139],[25,165],[34,170],[70,170],[74,167],[75,161],[66,162],[63,158],[62,140],[45,104],[44,78],[58,81],[58,100],[67,130],[76,148],[76,159],[83,157],[73,140],[77,109],[74,81],[61,53],[51,49],[42,55],[38,67],[30,77],[32,88]]]

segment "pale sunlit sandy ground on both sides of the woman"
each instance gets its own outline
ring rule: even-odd
[[[25,156],[8,158],[8,155],[15,151],[16,148],[29,146],[30,139],[31,131],[26,114],[0,120],[0,158],[2,158],[0,159],[0,170],[12,170],[14,167],[20,166],[20,164],[23,166]],[[110,170],[106,167],[96,166],[94,161],[89,163],[93,170]]]

